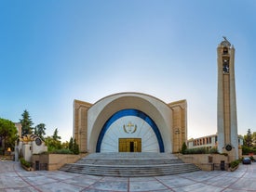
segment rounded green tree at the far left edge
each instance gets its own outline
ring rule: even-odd
[[[4,149],[6,149],[7,147],[13,148],[15,146],[15,141],[18,138],[17,134],[18,131],[15,127],[14,122],[0,118],[0,138],[1,141],[4,141]]]

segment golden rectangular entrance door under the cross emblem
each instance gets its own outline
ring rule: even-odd
[[[141,138],[119,138],[119,152],[141,152]]]

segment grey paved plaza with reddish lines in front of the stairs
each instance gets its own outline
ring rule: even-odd
[[[20,163],[0,161],[0,191],[255,191],[256,162],[240,164],[236,172],[195,172],[155,177],[104,177],[61,171],[26,172]]]

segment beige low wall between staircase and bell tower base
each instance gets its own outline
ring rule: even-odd
[[[228,157],[220,154],[179,155],[179,158],[195,164],[203,171],[222,170],[221,163],[224,163],[224,170],[228,170]]]

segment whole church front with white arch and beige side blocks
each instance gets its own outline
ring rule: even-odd
[[[186,101],[140,93],[74,100],[74,138],[83,152],[178,152],[186,141]]]

